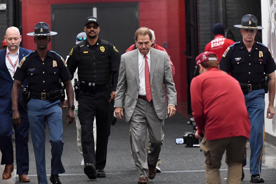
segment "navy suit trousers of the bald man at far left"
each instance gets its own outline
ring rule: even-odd
[[[15,148],[16,148],[16,168],[18,175],[28,175],[29,171],[29,121],[28,113],[18,105],[21,116],[20,126],[14,125]],[[14,151],[11,142],[11,135],[14,133],[12,126],[12,112],[0,113],[0,150],[2,153],[1,164],[14,163]]]

